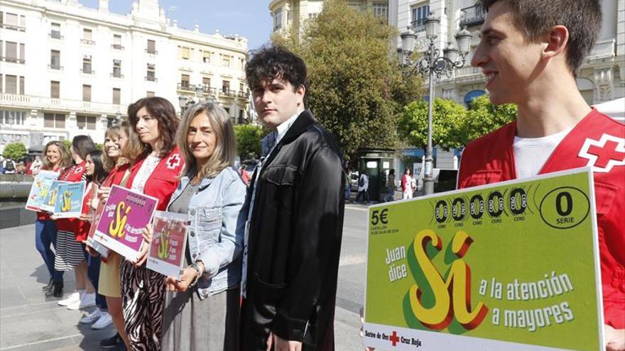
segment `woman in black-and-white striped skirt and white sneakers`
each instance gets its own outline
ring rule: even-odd
[[[72,140],[70,153],[75,165],[63,172],[59,180],[65,182],[81,182],[87,180],[87,162],[89,152],[95,150],[93,140],[87,135],[77,135]],[[78,218],[60,218],[56,221],[57,255],[54,267],[58,270],[75,270],[76,290],[65,300],[58,302],[61,306],[75,310],[95,305],[95,289],[87,278],[87,261],[85,260],[85,245],[80,238],[89,231],[88,225]]]

